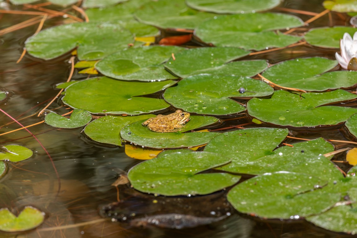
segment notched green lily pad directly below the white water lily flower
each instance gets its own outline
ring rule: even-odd
[[[356,71],[333,71],[338,62],[321,57],[283,61],[264,71],[263,76],[283,87],[306,91],[347,88],[357,84]],[[321,75],[322,74],[322,75]]]

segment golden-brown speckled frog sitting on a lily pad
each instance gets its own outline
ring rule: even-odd
[[[190,113],[176,110],[169,115],[157,115],[144,121],[141,125],[147,126],[155,132],[177,132],[184,127],[185,123],[190,121]]]

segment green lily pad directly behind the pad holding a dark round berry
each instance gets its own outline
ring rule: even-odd
[[[175,60],[167,61],[165,67],[182,78],[195,74],[253,76],[266,68],[266,62],[228,63],[248,53],[246,50],[233,47],[195,48],[178,52],[175,54]]]

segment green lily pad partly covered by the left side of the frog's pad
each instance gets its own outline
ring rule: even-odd
[[[90,122],[84,128],[84,133],[96,142],[121,146],[120,130],[130,123],[147,120],[150,117],[155,115],[132,117],[108,115]]]

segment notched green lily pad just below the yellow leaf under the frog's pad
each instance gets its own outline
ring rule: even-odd
[[[209,194],[238,182],[240,176],[228,173],[201,173],[228,163],[229,158],[210,152],[158,155],[131,168],[131,185],[146,193],[166,196]]]

